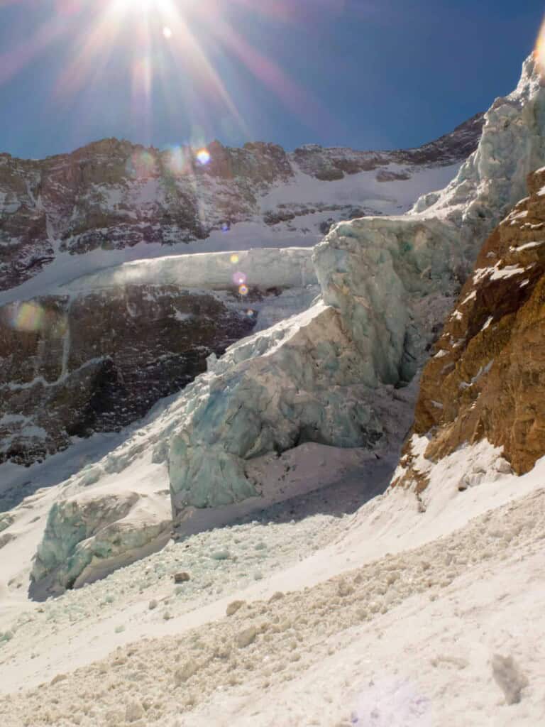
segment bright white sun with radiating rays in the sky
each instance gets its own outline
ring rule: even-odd
[[[238,111],[243,88],[235,84],[232,74],[230,87],[225,81],[229,71],[222,67],[221,58],[229,57],[245,66],[304,121],[326,118],[326,111],[288,71],[230,22],[228,11],[234,6],[238,6],[239,14],[261,15],[264,27],[268,21],[287,23],[293,15],[290,0],[263,4],[253,0],[55,0],[55,11],[46,25],[29,33],[20,47],[0,54],[0,83],[25,65],[36,63],[42,52],[57,44],[66,55],[66,63],[57,76],[52,103],[56,100],[62,113],[65,100],[89,87],[104,86],[109,80],[110,61],[118,62],[121,57],[124,68],[129,69],[126,81],[132,89],[133,116],[151,119],[156,86],[175,108],[173,79],[178,76],[189,81],[195,100],[195,127],[212,129],[214,124],[203,122],[202,116],[216,114],[232,119],[242,136],[249,137],[251,133]],[[118,84],[123,81],[119,79],[116,76],[113,93],[121,91]],[[206,139],[191,141],[202,146]]]

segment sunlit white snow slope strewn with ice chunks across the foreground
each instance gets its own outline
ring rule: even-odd
[[[401,489],[355,509],[384,486],[369,462],[10,609],[0,723],[542,723],[545,458],[520,478],[498,459],[487,443],[451,456],[424,512]],[[491,476],[458,491],[479,463]]]

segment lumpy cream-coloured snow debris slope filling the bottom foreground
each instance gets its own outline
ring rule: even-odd
[[[533,480],[538,478],[536,473]],[[371,518],[376,505],[370,503],[366,511]],[[427,545],[383,556],[274,601],[246,603],[230,618],[220,616],[177,636],[174,630],[163,638],[126,643],[47,691],[31,687],[0,699],[1,723],[68,727],[76,710],[82,727],[96,727],[108,724],[108,715],[126,704],[121,719],[143,718],[146,725],[161,727],[174,727],[179,716],[188,727],[326,727],[343,719],[366,727],[431,727],[461,725],[461,714],[465,723],[507,726],[498,720],[490,691],[480,688],[467,702],[467,685],[476,681],[486,652],[496,653],[504,643],[515,648],[517,663],[494,657],[493,675],[514,710],[525,705],[514,712],[517,724],[530,727],[539,723],[540,694],[528,690],[525,699],[520,696],[537,677],[538,656],[543,656],[536,617],[544,603],[520,585],[543,574],[544,526],[541,487]],[[99,585],[103,582],[85,590]],[[525,614],[516,642],[505,630],[515,612]],[[382,638],[386,632],[388,638]],[[76,705],[73,694],[79,696]]]

